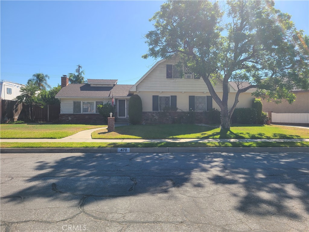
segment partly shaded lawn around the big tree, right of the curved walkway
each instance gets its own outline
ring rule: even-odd
[[[91,134],[93,139],[299,139],[309,129],[278,125],[232,125],[230,131],[194,124],[132,125]]]

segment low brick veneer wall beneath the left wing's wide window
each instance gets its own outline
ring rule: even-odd
[[[59,122],[104,123],[100,114],[59,114]]]

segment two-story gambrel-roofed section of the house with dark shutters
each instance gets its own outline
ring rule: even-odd
[[[182,111],[195,111],[198,122],[203,122],[204,111],[220,107],[212,99],[208,88],[203,79],[195,76],[189,70],[184,68],[184,77],[180,77],[175,68],[177,60],[160,60],[158,61],[136,84],[130,88],[130,92],[138,94],[142,99],[143,119],[155,121],[159,117],[159,112],[165,106],[171,109],[178,109],[174,113],[175,117]],[[222,83],[214,86],[215,91],[222,97]],[[237,83],[229,83],[228,106],[231,109],[234,104],[237,92]],[[250,89],[239,95],[238,108],[251,107],[254,97]],[[205,118],[204,118],[205,119]]]

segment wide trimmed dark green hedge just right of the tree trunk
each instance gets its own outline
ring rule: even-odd
[[[236,108],[231,117],[232,123],[253,124],[256,122],[256,109]]]

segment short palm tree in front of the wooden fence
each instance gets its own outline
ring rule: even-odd
[[[40,87],[33,84],[26,84],[25,87],[20,87],[19,91],[21,94],[14,98],[14,100],[17,101],[16,105],[20,103],[26,104],[28,107],[26,111],[27,118],[29,121],[32,121],[34,119],[32,115],[33,106],[39,105],[40,107],[43,107],[42,105],[44,105],[44,103],[37,97]]]

